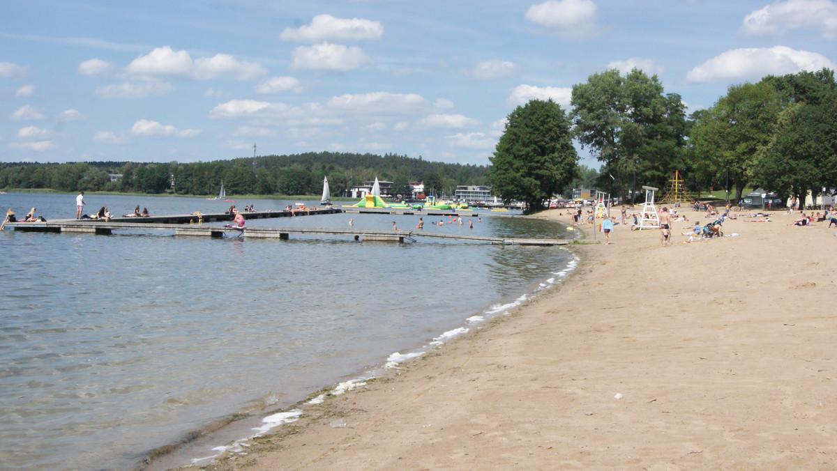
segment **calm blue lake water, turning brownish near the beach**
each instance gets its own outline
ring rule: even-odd
[[[3,194],[3,213],[74,218],[75,195]],[[182,197],[85,197],[86,212],[223,212]],[[257,210],[289,201],[241,200]],[[311,204],[311,202],[308,202]],[[349,203],[351,204],[351,203]],[[468,228],[468,219],[474,228]],[[424,231],[571,238],[483,212]],[[248,226],[413,228],[417,216],[334,214]],[[444,220],[441,227],[430,221]],[[572,233],[571,233],[572,234]],[[0,233],[0,468],[131,468],[234,412],[290,406],[551,284],[562,248]],[[474,325],[470,325],[473,328]],[[222,444],[222,443],[217,443]]]

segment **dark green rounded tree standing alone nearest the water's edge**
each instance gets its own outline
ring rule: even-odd
[[[490,161],[488,180],[494,194],[506,203],[526,202],[527,212],[541,210],[578,172],[578,154],[564,110],[552,100],[518,106],[508,115]]]

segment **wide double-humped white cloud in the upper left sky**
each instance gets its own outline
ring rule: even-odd
[[[267,70],[260,64],[239,61],[229,54],[193,60],[186,51],[174,51],[169,46],[163,46],[132,60],[126,67],[126,73],[140,79],[247,80],[264,75]]]

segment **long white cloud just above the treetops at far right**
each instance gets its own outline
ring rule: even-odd
[[[785,46],[760,49],[732,49],[707,60],[686,74],[689,82],[761,79],[764,75],[795,74],[801,70],[834,69],[821,54],[797,51]]]

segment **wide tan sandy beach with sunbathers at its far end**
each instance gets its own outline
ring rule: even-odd
[[[837,468],[837,228],[773,212],[683,243],[708,219],[682,213],[670,246],[619,225],[573,246],[511,315],[208,468]]]

